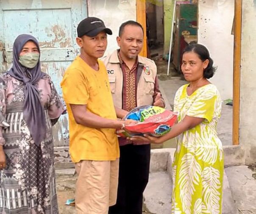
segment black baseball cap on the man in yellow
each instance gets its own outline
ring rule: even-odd
[[[107,34],[112,35],[112,31],[109,28],[106,28],[104,22],[96,17],[87,17],[83,19],[77,27],[78,37],[87,35],[93,37],[98,35],[101,31],[105,31]]]

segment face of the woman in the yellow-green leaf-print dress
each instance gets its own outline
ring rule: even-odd
[[[203,69],[207,68],[209,60],[200,60],[195,52],[185,52],[182,57],[181,71],[186,81],[197,81],[203,78]]]

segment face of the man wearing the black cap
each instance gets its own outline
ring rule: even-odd
[[[81,47],[81,52],[94,59],[103,57],[108,44],[105,32],[100,32],[94,37],[83,35],[82,38],[76,38],[76,42]]]

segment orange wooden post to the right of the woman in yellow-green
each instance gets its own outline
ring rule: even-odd
[[[242,0],[235,0],[234,79],[233,79],[233,145],[239,144],[240,119],[240,60],[242,32]]]

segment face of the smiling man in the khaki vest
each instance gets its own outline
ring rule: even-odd
[[[122,35],[117,37],[120,53],[123,58],[136,59],[143,47],[143,31],[136,25],[126,25]]]

